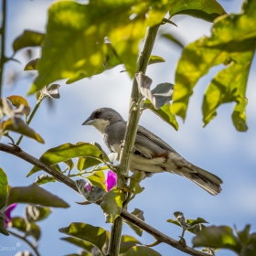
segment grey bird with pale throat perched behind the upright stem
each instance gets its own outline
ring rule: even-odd
[[[94,126],[109,150],[120,155],[126,122],[119,112],[112,108],[99,108],[82,125]],[[213,196],[219,194],[223,183],[219,176],[189,163],[169,144],[141,125],[137,128],[129,170],[144,172],[145,176],[162,172],[185,176]]]

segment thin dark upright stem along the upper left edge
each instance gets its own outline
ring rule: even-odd
[[[0,98],[2,97],[2,85],[3,85],[3,80],[4,80],[5,23],[6,23],[6,0],[2,0],[1,60],[0,60]]]

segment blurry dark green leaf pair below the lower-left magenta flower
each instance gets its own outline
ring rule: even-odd
[[[18,229],[21,232],[24,232],[27,236],[33,236],[36,240],[39,240],[41,231],[36,223],[30,223],[27,227],[27,222],[21,217],[14,217],[9,223],[11,228]]]

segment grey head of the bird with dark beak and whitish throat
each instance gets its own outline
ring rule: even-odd
[[[91,116],[82,125],[93,125],[100,133],[112,123],[122,122],[123,117],[111,108],[100,108],[91,113]]]

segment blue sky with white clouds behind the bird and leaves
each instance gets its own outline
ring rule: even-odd
[[[9,0],[7,19],[7,56],[12,54],[12,41],[22,33],[24,29],[45,31],[47,22],[47,8],[53,1],[47,0]],[[239,12],[241,1],[219,1],[228,13]],[[184,38],[189,43],[198,37],[210,35],[211,24],[188,16],[176,16],[174,18],[178,27],[165,26]],[[153,86],[160,82],[172,82],[175,80],[176,63],[181,55],[181,50],[158,38],[153,50],[154,55],[165,58],[163,64],[155,64],[147,69],[147,75],[153,79]],[[39,56],[37,50],[34,58]],[[16,59],[22,65],[10,62],[6,65],[5,75],[19,71],[21,79],[13,86],[5,85],[4,97],[13,94],[26,95],[32,82],[31,78],[22,69],[27,64],[27,59],[21,51],[16,54]],[[251,231],[256,231],[256,72],[255,58],[251,66],[248,81],[247,117],[249,130],[239,133],[231,122],[231,113],[234,103],[223,105],[218,110],[218,116],[202,127],[201,104],[204,91],[209,81],[223,67],[211,69],[207,76],[199,80],[194,94],[189,101],[187,120],[183,123],[178,120],[180,129],[176,132],[167,123],[163,123],[154,113],[146,111],[142,115],[140,124],[148,130],[160,136],[176,151],[183,155],[189,162],[198,165],[219,176],[224,184],[222,192],[212,197],[207,192],[197,187],[192,182],[181,176],[159,174],[146,178],[142,182],[144,192],[138,195],[129,205],[129,210],[140,208],[144,210],[145,221],[156,229],[165,232],[170,237],[178,240],[181,229],[166,222],[173,219],[175,211],[182,211],[187,219],[201,217],[208,220],[210,225],[229,225],[243,229],[246,224],[251,224]],[[109,70],[91,79],[80,80],[74,84],[66,85],[64,80],[59,81],[60,99],[54,101],[53,107],[44,101],[31,127],[39,133],[46,144],[38,144],[25,138],[21,147],[27,153],[39,157],[48,148],[65,143],[77,143],[80,141],[103,144],[101,134],[92,127],[82,126],[81,123],[99,107],[112,107],[127,118],[129,96],[132,82],[127,74],[120,73],[122,67]],[[36,102],[34,96],[29,96],[30,106]],[[16,135],[14,136],[16,137]],[[8,143],[3,138],[1,142]],[[28,186],[36,180],[37,175],[26,177],[32,168],[27,162],[16,159],[13,155],[0,152],[0,166],[5,170],[9,178],[9,184],[13,187]],[[38,175],[43,174],[43,172]],[[59,228],[67,227],[71,222],[85,222],[94,226],[110,229],[110,224],[104,223],[101,208],[97,206],[79,206],[75,202],[82,198],[75,192],[59,183],[43,186],[51,193],[69,202],[70,208],[52,208],[52,213],[41,222],[38,222],[42,230],[39,240],[39,252],[42,255],[66,255],[77,252],[79,248],[59,240],[64,237],[59,233]],[[13,216],[24,215],[24,205],[20,205],[13,212]],[[134,235],[133,231],[124,225],[123,234]],[[134,235],[135,236],[135,235]],[[145,244],[150,244],[154,239],[144,233],[138,238]],[[191,236],[186,234],[187,244],[191,245]],[[16,238],[1,236],[0,246],[15,247]],[[20,250],[27,250],[27,245],[21,242]],[[16,250],[18,250],[16,248]],[[49,250],[51,251],[49,254]],[[162,255],[185,255],[171,247],[160,244],[155,247]],[[14,251],[5,251],[6,256],[14,255]],[[219,256],[234,255],[229,251],[218,251]]]

